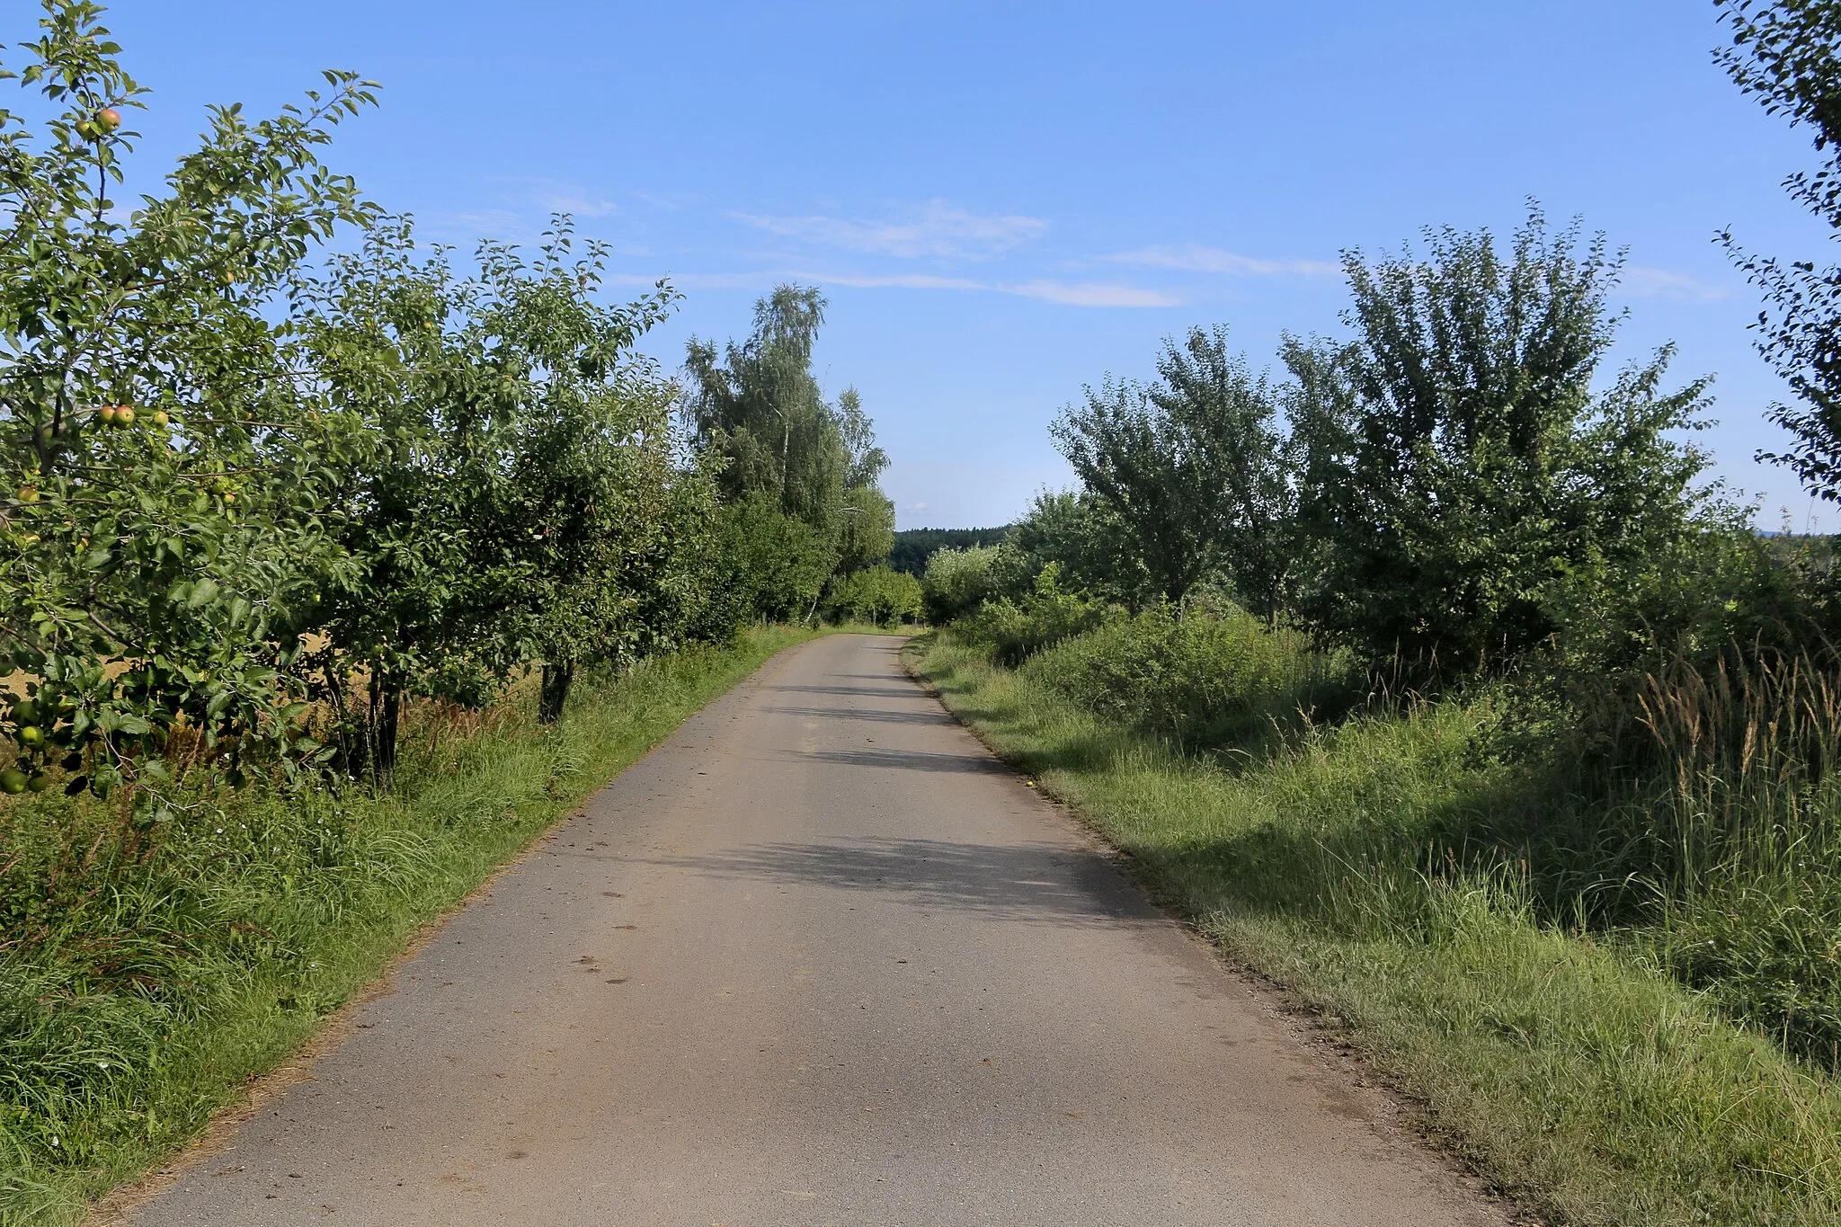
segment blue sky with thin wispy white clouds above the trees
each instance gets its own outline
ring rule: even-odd
[[[1506,234],[1526,197],[1629,248],[1618,359],[1675,340],[1683,381],[1718,375],[1701,441],[1760,519],[1841,526],[1753,462],[1780,390],[1712,239],[1826,237],[1778,188],[1808,138],[1712,64],[1710,0],[120,0],[107,22],[155,88],[134,127],[156,160],[210,101],[381,81],[337,169],[460,245],[574,212],[624,278],[687,292],[648,338],[672,368],[775,281],[819,283],[819,370],[863,394],[904,528],[1068,482],[1048,421],[1149,373],[1160,337],[1224,322],[1270,362],[1281,331],[1338,331],[1342,248]]]

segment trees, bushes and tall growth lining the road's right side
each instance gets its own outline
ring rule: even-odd
[[[1791,191],[1841,230],[1841,6],[1727,20],[1734,79],[1817,131],[1824,167]],[[1769,458],[1841,502],[1841,272],[1721,241],[1793,392]],[[1475,872],[1552,922],[1635,925],[1734,1017],[1834,1063],[1828,539],[1760,533],[1707,480],[1710,379],[1673,379],[1672,346],[1602,379],[1605,235],[1530,206],[1506,243],[1427,230],[1344,272],[1346,333],[1287,335],[1278,373],[1195,327],[1154,377],[1086,388],[1051,427],[1079,486],[1000,545],[935,552],[930,616],[1182,752],[1305,762],[1366,728],[1442,800],[1403,791],[1338,865]],[[1305,861],[1300,879],[1333,870]]]

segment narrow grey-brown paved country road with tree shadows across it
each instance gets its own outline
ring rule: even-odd
[[[1502,1221],[898,648],[690,719],[127,1221]]]

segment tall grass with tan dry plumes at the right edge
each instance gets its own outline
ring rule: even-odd
[[[1841,1067],[1841,686],[1810,657],[1673,660],[1626,719],[1624,802],[1655,846],[1672,969],[1788,1049]]]

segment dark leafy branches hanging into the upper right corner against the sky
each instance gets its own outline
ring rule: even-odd
[[[1732,29],[1732,46],[1719,53],[1732,79],[1767,112],[1813,129],[1821,169],[1799,171],[1784,186],[1841,230],[1841,2],[1714,4]],[[1789,465],[1810,493],[1841,502],[1841,267],[1753,256],[1731,232],[1721,241],[1764,289],[1758,350],[1800,401],[1771,407],[1769,416],[1789,430],[1791,447],[1762,458]]]

